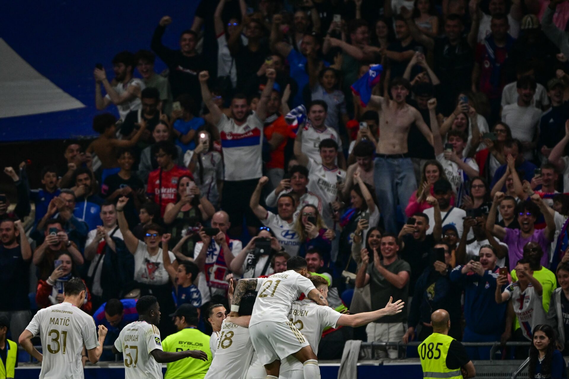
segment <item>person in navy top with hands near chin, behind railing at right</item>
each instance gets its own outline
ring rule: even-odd
[[[450,274],[451,281],[464,288],[463,342],[500,341],[505,330],[508,303],[494,301],[496,278],[500,267],[496,265],[496,251],[491,245],[480,247],[480,261],[469,261],[456,266]],[[502,286],[502,291],[505,285]],[[467,347],[472,360],[490,359],[490,347]]]

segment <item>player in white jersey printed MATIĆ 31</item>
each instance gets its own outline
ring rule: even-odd
[[[93,318],[79,309],[85,301],[85,292],[85,284],[80,278],[69,280],[63,289],[63,302],[40,309],[20,335],[20,345],[42,363],[40,379],[83,378],[83,345],[90,363],[97,363],[101,357],[107,329],[99,326],[97,340]],[[31,341],[38,333],[43,355]]]

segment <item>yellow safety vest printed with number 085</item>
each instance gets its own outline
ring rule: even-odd
[[[447,368],[448,348],[453,340],[446,334],[433,333],[419,345],[424,379],[463,379],[460,369]]]

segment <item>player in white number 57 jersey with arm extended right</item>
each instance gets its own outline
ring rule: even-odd
[[[146,295],[137,301],[138,321],[121,330],[113,345],[113,353],[122,352],[126,379],[155,379],[162,377],[162,363],[187,357],[207,360],[201,350],[162,351],[160,340],[160,306],[154,296]]]

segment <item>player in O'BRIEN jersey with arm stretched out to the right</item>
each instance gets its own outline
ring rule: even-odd
[[[324,298],[328,297],[328,281],[321,276],[311,276],[310,281]],[[312,346],[312,350],[318,355],[318,344],[325,327],[337,328],[339,326],[358,327],[378,318],[387,315],[400,313],[405,304],[401,300],[389,302],[384,309],[373,312],[364,312],[354,315],[341,314],[331,307],[322,307],[309,299],[295,300],[292,302],[288,319],[294,324],[302,335],[308,340]],[[303,366],[300,362],[292,357],[287,357],[281,362],[280,379],[303,379]]]

